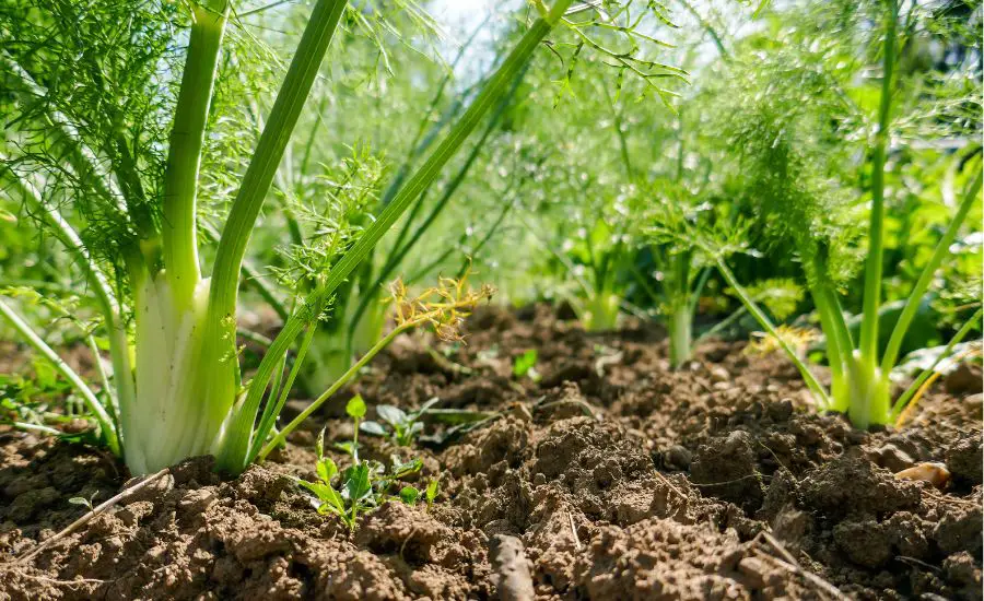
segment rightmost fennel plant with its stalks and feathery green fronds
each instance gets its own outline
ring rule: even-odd
[[[867,427],[894,421],[914,391],[903,393],[892,403],[890,375],[937,270],[980,199],[981,146],[972,141],[979,137],[975,133],[980,132],[980,121],[961,119],[959,114],[947,115],[947,111],[967,108],[952,105],[950,95],[954,84],[969,83],[963,78],[970,73],[954,70],[942,81],[934,81],[918,72],[900,73],[900,38],[911,44],[921,34],[940,31],[932,27],[945,27],[945,21],[932,13],[923,13],[916,7],[911,8],[903,19],[894,0],[854,9],[844,7],[844,10],[856,10],[855,20],[864,19],[878,25],[872,39],[862,38],[864,44],[872,46],[863,48],[880,58],[877,90],[850,87],[847,78],[863,68],[860,63],[829,66],[830,59],[825,55],[842,51],[843,39],[837,39],[839,36],[864,35],[863,32],[840,31],[812,38],[809,46],[794,34],[790,37],[793,44],[777,51],[775,58],[757,63],[753,72],[748,67],[736,68],[736,76],[741,83],[729,82],[731,85],[727,92],[723,89],[722,94],[730,94],[737,101],[727,131],[731,144],[742,153],[741,193],[749,198],[758,217],[766,222],[771,244],[796,252],[805,274],[806,287],[825,339],[832,378],[830,389],[820,385],[788,345],[783,347],[799,367],[821,408],[845,412],[856,426]],[[818,24],[824,19],[806,16],[819,19]],[[757,79],[764,79],[764,82]],[[772,94],[761,95],[765,86]],[[859,97],[860,92],[869,95],[870,108],[855,104],[853,97]],[[974,96],[967,96],[964,102],[973,103]],[[979,97],[976,102],[980,103]],[[927,139],[907,139],[916,134],[939,135],[938,123],[933,123],[928,132],[918,125],[932,113],[952,118],[947,123],[951,128],[947,134],[967,135],[958,152],[926,157],[914,146],[915,142]],[[901,130],[905,126],[900,122],[912,130]],[[888,153],[892,137],[900,140],[894,151],[897,156],[890,163]],[[852,146],[864,153],[864,164],[851,164],[846,154]],[[919,251],[918,260],[913,261],[913,281],[907,290],[898,290],[902,308],[887,322],[882,292],[887,196],[893,181],[904,181],[893,178],[898,165],[927,158],[950,164],[948,185],[956,199],[947,226],[934,244],[927,245],[928,252]],[[852,166],[859,167],[860,177],[848,170]],[[862,228],[865,217],[859,211],[858,198],[868,204],[865,229]],[[859,266],[862,254],[864,264]],[[755,306],[751,295],[742,290],[721,254],[716,262],[722,276],[737,292],[749,313],[774,334],[773,325]],[[858,267],[860,274],[857,274]],[[852,331],[842,306],[841,291],[857,280],[860,280],[862,290],[859,331]],[[976,327],[980,317],[980,310],[974,313],[968,327],[954,334],[953,342],[959,342]],[[889,332],[887,339],[880,337],[881,329]]]

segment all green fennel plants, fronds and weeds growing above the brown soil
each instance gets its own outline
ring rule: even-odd
[[[859,428],[972,354],[980,3],[506,4],[5,2],[0,421],[134,474],[239,473],[400,335],[448,362],[476,275],[602,338],[657,322],[675,369],[764,337]],[[497,373],[534,386],[542,358]],[[349,410],[352,464],[319,446],[303,485],[350,527],[437,492],[360,461],[360,431],[491,419]]]

